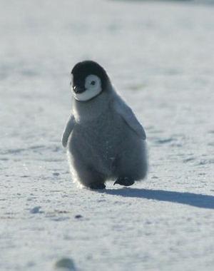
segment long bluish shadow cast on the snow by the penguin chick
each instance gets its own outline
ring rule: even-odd
[[[126,198],[147,198],[170,203],[180,203],[198,208],[214,209],[214,196],[165,190],[148,190],[140,188],[106,189],[103,193],[121,195]]]

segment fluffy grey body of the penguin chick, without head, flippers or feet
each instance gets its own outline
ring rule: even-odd
[[[146,175],[146,142],[114,110],[116,98],[111,86],[91,101],[73,98],[75,126],[68,138],[68,158],[73,178],[83,185]]]

